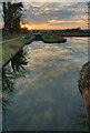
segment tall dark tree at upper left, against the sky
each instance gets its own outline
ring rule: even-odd
[[[4,29],[9,32],[20,30],[20,19],[22,16],[22,2],[3,2]]]

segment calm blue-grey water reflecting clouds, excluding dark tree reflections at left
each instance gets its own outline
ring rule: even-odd
[[[84,101],[78,80],[88,61],[88,39],[68,38],[66,43],[34,41],[23,48],[28,64],[13,72],[3,113],[6,131],[87,131]]]

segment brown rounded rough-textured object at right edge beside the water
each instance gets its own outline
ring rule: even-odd
[[[90,61],[80,71],[79,90],[86,101],[88,124],[90,130]]]

